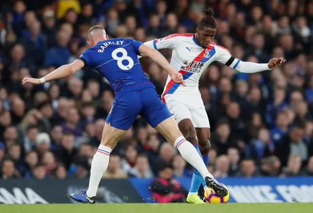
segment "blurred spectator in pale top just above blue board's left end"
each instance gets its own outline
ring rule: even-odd
[[[150,169],[148,158],[146,155],[140,154],[136,158],[135,166],[129,170],[129,176],[137,178],[152,178],[154,177]]]

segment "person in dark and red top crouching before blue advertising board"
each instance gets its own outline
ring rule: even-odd
[[[173,167],[163,163],[151,183],[152,196],[158,203],[185,203],[188,191],[173,179]]]

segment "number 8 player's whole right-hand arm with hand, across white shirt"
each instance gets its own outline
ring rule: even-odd
[[[139,46],[139,52],[141,56],[148,56],[157,64],[159,64],[165,71],[171,76],[174,82],[179,83],[185,86],[185,82],[182,78],[182,75],[177,72],[171,65],[168,63],[166,58],[159,53],[156,49],[153,49],[145,44]]]

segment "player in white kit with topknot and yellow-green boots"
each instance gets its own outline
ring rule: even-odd
[[[217,28],[213,14],[212,8],[204,10],[196,34],[173,34],[145,43],[156,50],[173,49],[171,66],[183,75],[187,86],[174,83],[169,76],[161,98],[173,114],[183,136],[195,146],[206,165],[211,146],[210,123],[199,91],[202,72],[214,61],[243,73],[271,70],[286,61],[284,58],[273,58],[268,64],[256,64],[236,59],[223,46],[211,42]],[[194,170],[187,197],[189,203],[204,203],[198,196],[201,184],[206,188],[200,173]]]

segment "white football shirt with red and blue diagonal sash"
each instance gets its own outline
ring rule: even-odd
[[[171,77],[168,76],[162,94],[162,100],[166,94],[200,94],[199,80],[207,66],[214,61],[226,64],[232,57],[227,49],[212,42],[206,49],[203,49],[196,42],[192,33],[172,34],[144,44],[156,50],[164,48],[173,49],[171,66],[183,75],[183,79],[187,85],[182,86],[174,83]],[[236,68],[239,62],[239,59],[234,59],[228,65],[231,68]]]

